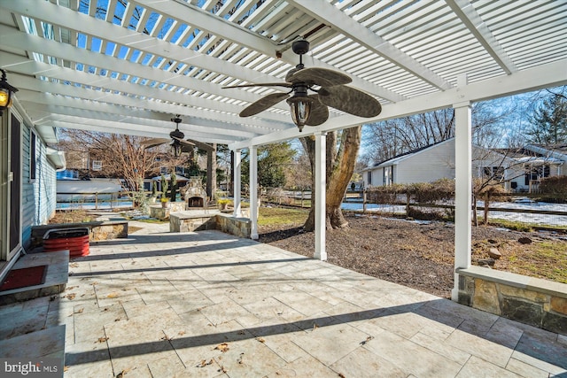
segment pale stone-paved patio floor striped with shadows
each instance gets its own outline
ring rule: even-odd
[[[146,224],[90,251],[58,298],[0,307],[46,328],[3,351],[52,356],[65,325],[66,377],[567,374],[566,336],[249,239]]]

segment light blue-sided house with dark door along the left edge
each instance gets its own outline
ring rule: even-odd
[[[53,127],[31,127],[14,102],[0,124],[0,277],[31,242],[31,228],[55,212],[56,171],[65,157],[47,143],[58,143]]]

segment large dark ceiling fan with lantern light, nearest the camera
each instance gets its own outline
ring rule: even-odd
[[[260,98],[240,112],[240,117],[249,117],[263,112],[283,99],[290,104],[291,119],[299,127],[299,131],[303,130],[304,125],[318,126],[329,119],[327,106],[366,118],[375,117],[382,112],[382,106],[377,99],[358,89],[346,87],[345,84],[352,81],[346,74],[327,68],[305,68],[302,57],[309,51],[309,42],[305,40],[295,41],[291,44],[291,50],[299,55],[299,65],[287,73],[285,82],[222,87],[223,89],[245,87],[291,88],[287,93],[272,93]],[[309,95],[307,90],[314,91],[315,94]]]

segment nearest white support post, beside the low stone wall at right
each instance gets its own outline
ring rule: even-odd
[[[454,269],[470,267],[472,235],[472,128],[470,103],[454,105]],[[459,299],[459,274],[454,274],[454,301]]]

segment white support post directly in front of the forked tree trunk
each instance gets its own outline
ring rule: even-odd
[[[315,255],[322,261],[327,261],[327,250],[325,245],[325,232],[327,226],[327,166],[326,153],[327,135],[315,134]],[[313,201],[313,198],[311,198]],[[311,204],[313,205],[313,204]]]

